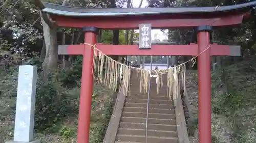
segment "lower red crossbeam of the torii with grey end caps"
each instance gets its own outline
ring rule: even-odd
[[[151,49],[139,49],[138,45],[102,45],[97,49],[106,55],[198,55],[198,45],[152,45]],[[59,45],[58,54],[81,55],[84,45]],[[211,44],[210,55],[240,56],[240,46]]]

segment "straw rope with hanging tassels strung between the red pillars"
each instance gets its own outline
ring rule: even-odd
[[[84,44],[90,45],[88,43]],[[94,69],[94,73],[92,74],[94,74],[94,77],[98,77],[98,82],[104,83],[113,91],[117,90],[118,80],[122,79],[122,82],[119,83],[119,92],[128,95],[130,90],[131,70],[137,72],[137,75],[139,76],[140,92],[148,92],[148,81],[150,78],[154,77],[156,78],[157,83],[157,93],[159,93],[159,90],[162,89],[164,84],[163,78],[165,78],[165,76],[167,78],[167,96],[169,99],[172,97],[176,99],[177,96],[179,96],[177,95],[178,90],[180,90],[180,88],[185,89],[185,63],[188,61],[176,67],[169,67],[166,70],[146,70],[124,65],[102,53],[96,48],[96,45],[91,46],[94,50],[94,65],[92,68]],[[194,61],[194,59],[191,59],[190,61]]]

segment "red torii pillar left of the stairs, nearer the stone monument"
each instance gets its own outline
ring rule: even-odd
[[[84,43],[94,45],[99,29],[96,27],[83,27]],[[77,142],[88,143],[90,131],[91,104],[93,92],[93,48],[83,44],[82,79],[80,90]]]

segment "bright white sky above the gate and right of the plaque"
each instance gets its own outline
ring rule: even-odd
[[[140,5],[140,1],[141,0],[132,0],[133,7],[138,8]],[[147,6],[147,0],[143,0],[141,8],[145,8],[146,6]],[[156,37],[157,39],[160,39],[160,40],[168,39],[167,35],[163,34],[160,30],[152,30],[151,37],[152,37],[152,40],[156,39]]]

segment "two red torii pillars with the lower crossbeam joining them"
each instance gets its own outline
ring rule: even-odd
[[[94,45],[98,28],[84,27],[84,43]],[[211,26],[198,26],[198,44],[152,45],[152,49],[139,50],[137,45],[98,45],[102,52],[112,55],[197,55],[198,56],[198,119],[199,143],[211,142],[211,79],[210,55],[240,55],[240,46],[210,45]],[[176,46],[173,47],[173,46]],[[178,47],[179,46],[179,47]],[[208,49],[207,49],[208,48]],[[204,52],[203,52],[204,51]],[[59,54],[82,54],[82,79],[78,117],[77,142],[89,142],[90,115],[93,90],[93,49],[87,44],[65,45]]]

